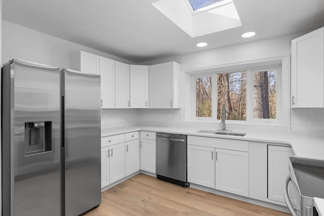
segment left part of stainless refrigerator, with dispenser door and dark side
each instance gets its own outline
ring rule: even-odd
[[[60,70],[15,59],[2,77],[3,215],[60,215]]]

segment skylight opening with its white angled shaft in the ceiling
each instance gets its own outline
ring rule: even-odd
[[[242,25],[233,0],[158,0],[152,5],[191,37]]]

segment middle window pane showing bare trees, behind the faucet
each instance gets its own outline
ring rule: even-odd
[[[222,118],[223,104],[227,120],[247,119],[246,82],[246,71],[217,74],[217,119]]]

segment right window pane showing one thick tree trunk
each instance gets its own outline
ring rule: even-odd
[[[253,118],[276,118],[276,71],[253,74]]]

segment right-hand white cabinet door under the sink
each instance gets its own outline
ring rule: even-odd
[[[215,189],[249,196],[249,153],[215,149]]]

